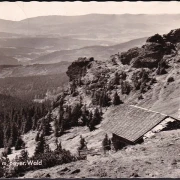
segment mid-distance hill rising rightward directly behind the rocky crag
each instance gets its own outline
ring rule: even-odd
[[[63,60],[71,62],[74,61],[74,59],[77,59],[78,57],[81,56],[85,56],[85,57],[92,56],[97,60],[105,61],[112,54],[121,53],[134,46],[136,47],[142,46],[145,43],[146,39],[147,39],[146,37],[134,39],[113,46],[87,46],[80,49],[55,51],[46,54],[44,56],[40,56],[32,60],[30,63],[48,64],[48,63],[57,63]]]

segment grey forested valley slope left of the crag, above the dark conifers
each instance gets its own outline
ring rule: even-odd
[[[47,91],[57,94],[66,85],[66,74],[7,77],[0,79],[0,94],[31,101],[35,96],[44,98]]]

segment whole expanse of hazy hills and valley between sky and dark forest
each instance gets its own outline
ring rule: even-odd
[[[21,21],[0,19],[0,56],[8,65],[73,61],[80,56],[106,60],[110,55],[142,43],[132,39],[169,32],[180,25],[180,15],[88,14],[39,16]],[[140,40],[141,41],[141,40]],[[143,40],[142,40],[143,41]],[[132,45],[131,45],[132,44]],[[111,47],[106,47],[111,46]],[[124,47],[123,47],[124,46]],[[7,57],[8,56],[8,57]]]

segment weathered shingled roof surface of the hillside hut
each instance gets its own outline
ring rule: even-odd
[[[119,105],[106,114],[102,128],[126,140],[135,142],[159,124],[167,115],[137,106]]]

